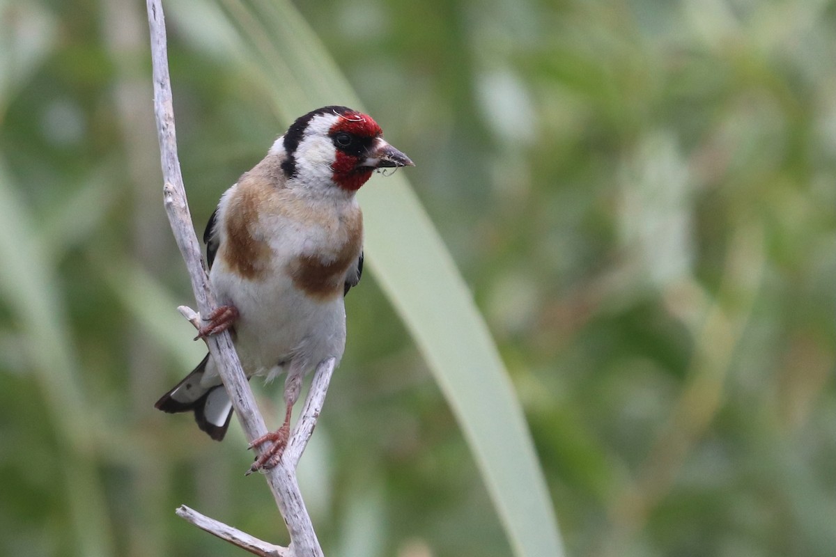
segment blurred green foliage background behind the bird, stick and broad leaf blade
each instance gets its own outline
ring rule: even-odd
[[[198,232],[299,115],[229,46],[263,3],[165,4]],[[567,554],[836,554],[836,2],[296,7],[416,162]],[[240,428],[152,407],[204,348],[151,99],[144,3],[0,1],[0,554],[242,554],[179,504],[287,542]],[[372,273],[347,311],[300,468],[326,554],[511,554]]]

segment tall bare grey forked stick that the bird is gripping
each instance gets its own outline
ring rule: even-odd
[[[186,203],[186,190],[177,159],[176,135],[174,127],[174,109],[171,101],[171,78],[168,71],[166,23],[163,17],[161,0],[147,0],[148,23],[150,27],[151,62],[154,78],[154,111],[156,115],[157,134],[160,139],[161,163],[163,180],[163,195],[166,213],[171,222],[177,246],[191,277],[192,290],[195,293],[197,309],[202,315],[209,315],[217,303],[210,291],[209,281],[203,266],[200,246],[194,233],[191,214]],[[267,433],[267,426],[252,396],[252,390],[238,361],[232,338],[227,332],[213,335],[206,339],[209,352],[217,365],[224,387],[232,400],[238,419],[247,440],[261,437]],[[286,455],[275,468],[265,473],[278,509],[282,513],[290,534],[288,555],[291,557],[322,557],[319,540],[314,533],[308,511],[305,509],[302,495],[299,493],[296,481],[295,466],[299,455],[313,432],[316,417],[322,408],[324,391],[327,389],[331,373],[334,371],[334,360],[330,359],[319,365],[314,377],[316,387],[312,386],[308,393],[308,400],[303,411],[304,420],[300,419],[298,426],[288,441]],[[319,397],[318,399],[314,399]]]

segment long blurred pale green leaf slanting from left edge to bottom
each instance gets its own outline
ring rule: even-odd
[[[99,420],[81,389],[54,266],[18,191],[0,161],[0,297],[23,332],[20,349],[43,391],[44,418],[54,424],[54,478],[66,489],[78,554],[104,557],[114,553],[112,530],[87,434]]]

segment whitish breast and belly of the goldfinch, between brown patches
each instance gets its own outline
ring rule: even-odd
[[[235,186],[222,198],[219,222],[225,221],[224,211],[232,195],[240,195]],[[329,254],[339,251],[336,248],[346,243],[349,234],[343,213],[359,212],[354,199],[347,201],[273,199],[265,204],[253,230],[262,235],[257,240],[266,241],[272,255],[268,268],[258,277],[244,278],[222,257],[216,257],[210,280],[219,303],[238,310],[235,344],[247,376],[267,375],[270,379],[290,362],[295,370],[304,372],[328,357],[339,363],[345,347],[342,292],[328,298],[308,296],[294,285],[288,263],[308,255],[327,261]],[[315,215],[315,220],[309,215]],[[224,230],[218,234],[223,246]],[[207,375],[211,372],[213,367],[207,368]]]

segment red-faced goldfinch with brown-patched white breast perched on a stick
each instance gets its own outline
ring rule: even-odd
[[[218,202],[203,241],[218,306],[197,338],[229,329],[247,378],[286,373],[282,426],[254,440],[272,442],[251,471],[271,468],[288,442],[303,377],[343,356],[344,296],[363,273],[363,214],[355,194],[380,169],[414,166],[369,115],[325,106],[296,119],[268,154]],[[221,441],[232,403],[212,356],[156,403],[193,412]]]

